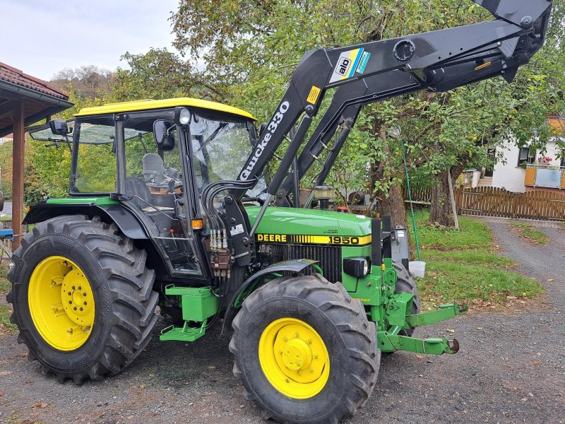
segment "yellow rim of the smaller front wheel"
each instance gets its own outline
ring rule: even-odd
[[[292,399],[316,396],[330,376],[330,355],[322,338],[295,318],[267,326],[259,340],[259,363],[270,384]]]

